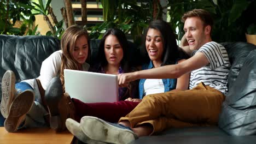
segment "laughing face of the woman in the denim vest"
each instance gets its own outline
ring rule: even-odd
[[[164,51],[163,39],[160,31],[149,28],[146,36],[146,49],[149,58],[153,61],[155,67],[161,65],[162,53]]]

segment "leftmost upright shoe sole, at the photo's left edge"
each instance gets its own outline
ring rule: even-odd
[[[9,115],[10,105],[14,100],[15,91],[15,75],[13,71],[6,71],[2,79],[2,100],[1,113],[4,118]]]

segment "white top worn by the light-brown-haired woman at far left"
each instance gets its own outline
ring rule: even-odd
[[[40,80],[42,87],[46,89],[49,85],[49,82],[53,77],[60,74],[61,68],[61,57],[62,50],[55,51],[48,58],[46,58],[40,69],[40,76],[37,78]],[[90,65],[88,63],[83,64],[83,71],[88,71]],[[27,82],[32,88],[34,88],[34,79],[24,80],[22,82]]]

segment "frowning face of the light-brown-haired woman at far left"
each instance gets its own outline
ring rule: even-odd
[[[84,64],[88,57],[88,40],[85,35],[81,35],[75,40],[73,57],[79,64]]]

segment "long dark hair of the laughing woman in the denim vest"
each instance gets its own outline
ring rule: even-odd
[[[175,64],[179,59],[188,58],[188,55],[177,46],[176,37],[172,31],[171,26],[162,20],[155,20],[149,23],[148,28],[144,31],[143,46],[146,49],[145,41],[148,29],[153,28],[161,33],[163,40],[163,49],[161,66],[168,64]]]

